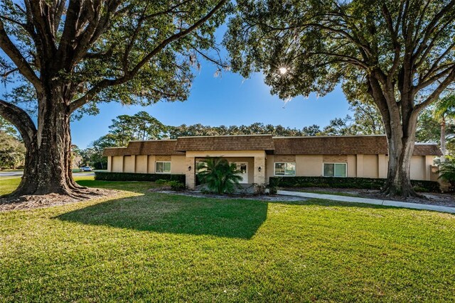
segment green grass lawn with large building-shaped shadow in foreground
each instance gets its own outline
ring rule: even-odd
[[[127,192],[0,213],[0,302],[455,300],[451,214],[78,182]]]

